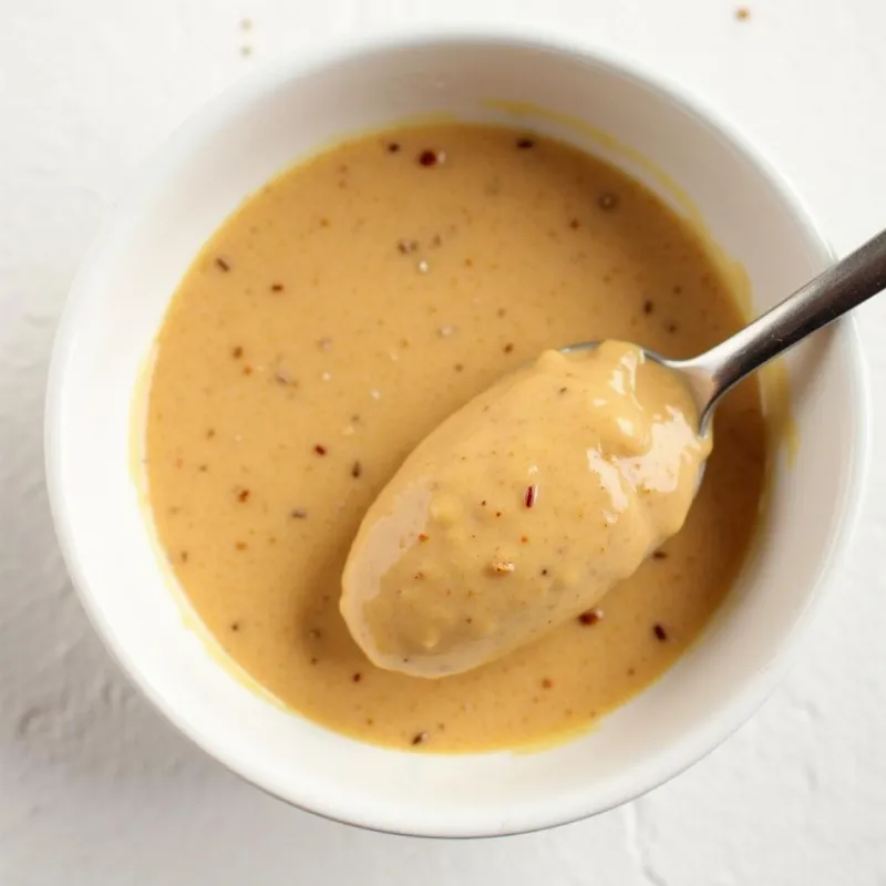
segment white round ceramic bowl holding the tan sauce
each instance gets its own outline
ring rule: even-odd
[[[523,125],[590,144],[556,115],[578,117],[647,156],[744,265],[758,310],[832,260],[743,136],[635,64],[514,35],[362,40],[257,71],[168,142],[76,278],[51,368],[47,467],[59,538],[125,671],[184,733],[256,785],[383,831],[546,827],[624,803],[707,754],[774,686],[844,547],[864,468],[864,379],[844,321],[789,360],[800,451],[776,472],[765,537],[730,605],[662,680],[563,746],[460,756],[373,748],[280,710],[207,655],[171,593],[132,474],[134,392],[169,296],[223,219],[299,156],[413,114],[505,119],[490,99],[555,112],[529,113]],[[629,152],[591,146],[649,178]]]

